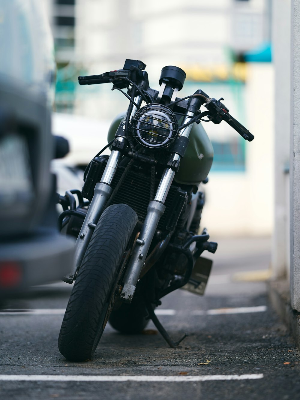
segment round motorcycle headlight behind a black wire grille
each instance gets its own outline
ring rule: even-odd
[[[178,122],[170,108],[148,104],[140,108],[131,120],[132,134],[145,147],[169,146],[178,134]]]

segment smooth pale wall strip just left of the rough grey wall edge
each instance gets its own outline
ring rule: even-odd
[[[273,2],[273,60],[275,66],[275,162],[274,233],[272,272],[274,278],[289,275],[290,215],[289,158],[291,131],[291,0]]]

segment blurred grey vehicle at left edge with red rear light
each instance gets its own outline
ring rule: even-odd
[[[0,297],[60,279],[74,242],[56,228],[55,63],[39,0],[0,0]]]

